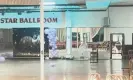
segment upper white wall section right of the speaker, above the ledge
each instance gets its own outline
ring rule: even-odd
[[[133,7],[110,7],[111,27],[133,27]]]

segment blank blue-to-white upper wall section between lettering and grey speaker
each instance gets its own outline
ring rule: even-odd
[[[72,12],[72,27],[103,27],[107,11]]]

